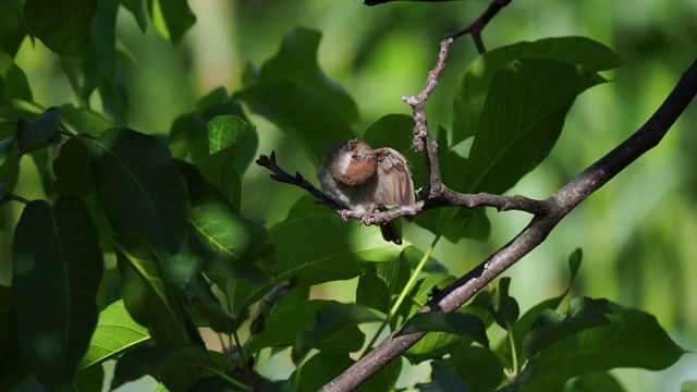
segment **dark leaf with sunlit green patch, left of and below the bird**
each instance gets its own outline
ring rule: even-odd
[[[265,228],[244,219],[220,192],[191,163],[176,161],[191,198],[192,236],[227,278],[244,278],[256,284],[267,279],[255,262],[270,252]]]

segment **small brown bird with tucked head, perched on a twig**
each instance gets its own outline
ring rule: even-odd
[[[396,150],[372,149],[358,139],[334,145],[322,159],[317,180],[327,196],[346,208],[342,213],[363,213],[363,220],[376,210],[414,204],[414,183],[409,162]],[[388,222],[380,224],[382,237],[402,244],[402,236]]]

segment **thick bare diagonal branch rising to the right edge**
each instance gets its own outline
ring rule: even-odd
[[[533,218],[527,228],[515,238],[467,274],[440,291],[419,309],[419,313],[436,308],[442,311],[457,309],[494,278],[530,253],[586,197],[598,191],[646,151],[657,146],[696,94],[697,60],[687,69],[673,91],[644,126],[545,200],[549,208],[546,216]],[[425,333],[413,333],[395,338],[398,331],[388,335],[371,352],[326,384],[321,391],[351,391],[357,388],[425,335]]]

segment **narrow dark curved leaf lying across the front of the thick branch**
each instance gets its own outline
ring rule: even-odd
[[[416,314],[404,323],[398,336],[416,332],[455,333],[489,347],[484,321],[470,314],[458,311],[447,314],[439,310]]]

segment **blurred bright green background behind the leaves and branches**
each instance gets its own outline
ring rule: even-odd
[[[411,114],[401,97],[420,90],[443,36],[469,23],[488,1],[400,1],[369,8],[362,0],[189,0],[189,5],[197,23],[179,47],[162,38],[167,32],[150,26],[143,35],[130,13],[122,10],[119,15],[120,45],[130,52],[120,59],[131,93],[125,125],[134,130],[166,134],[176,115],[189,111],[211,89],[239,89],[247,62],[260,65],[276,52],[285,30],[304,26],[322,33],[320,66],[354,97],[362,115],[357,131],[363,132],[382,115]],[[612,83],[580,96],[551,156],[508,194],[546,198],[638,128],[697,57],[696,21],[695,1],[517,0],[505,8],[484,32],[489,49],[580,35],[609,46],[625,61],[606,74]],[[454,44],[427,105],[431,128],[437,124],[450,128],[455,83],[476,56],[469,37]],[[37,102],[50,107],[74,101],[60,61],[41,42],[26,39],[16,62]],[[93,103],[99,107],[98,96]],[[305,157],[264,119],[250,120],[261,136],[258,154],[276,150],[283,168],[314,180],[319,162]],[[690,299],[697,297],[695,150],[697,103],[693,102],[658,148],[589,197],[545,244],[506,272],[522,310],[561,293],[568,275],[566,259],[580,247],[584,264],[575,295],[607,297],[649,311],[678,344],[695,351],[697,305]],[[22,175],[33,175],[32,170],[24,160]],[[253,166],[242,196],[243,213],[270,226],[284,219],[303,192],[276,183],[268,174]],[[22,184],[16,193],[40,197],[39,189]],[[438,244],[433,256],[451,273],[465,273],[529,221],[519,212],[489,213],[489,241]],[[403,226],[405,238],[417,247],[427,248],[433,238],[415,224]],[[315,295],[353,301],[354,290],[355,282],[330,284]],[[271,368],[266,371],[273,373]],[[659,373],[620,370],[616,375],[628,391],[677,391],[683,380],[697,379],[697,358],[688,354]]]

